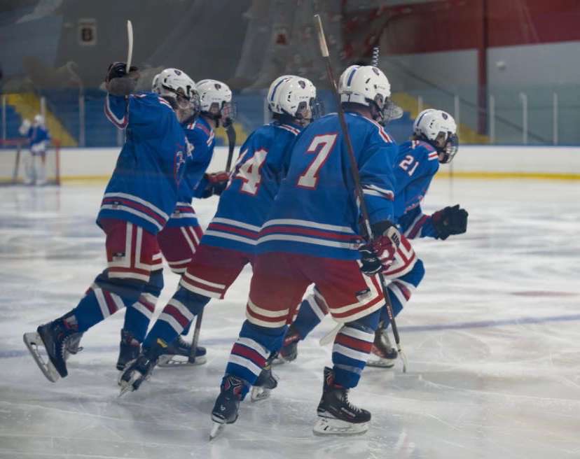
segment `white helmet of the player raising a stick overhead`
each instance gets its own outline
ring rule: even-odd
[[[199,113],[200,99],[195,89],[195,82],[184,71],[163,70],[153,78],[151,90],[172,104],[180,122]]]

